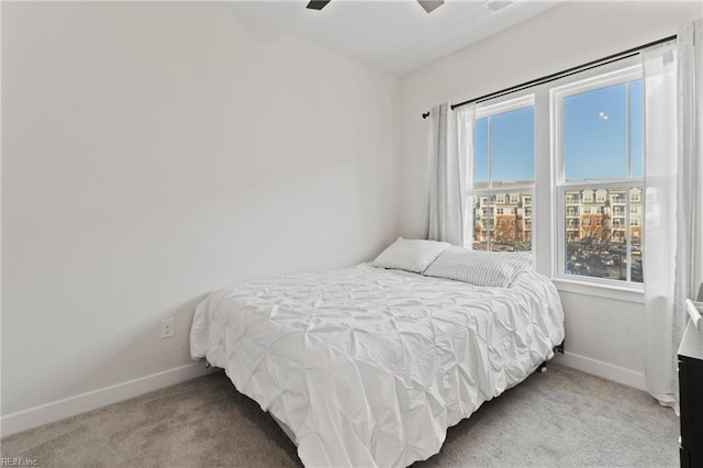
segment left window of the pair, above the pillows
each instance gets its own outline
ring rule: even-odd
[[[535,183],[534,97],[477,105],[473,130],[473,208],[470,238],[477,250],[532,250],[532,203]],[[494,215],[478,210],[479,200],[496,208]],[[528,214],[532,216],[532,211]]]

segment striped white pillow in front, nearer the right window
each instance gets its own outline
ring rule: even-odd
[[[424,272],[477,286],[507,288],[517,275],[532,268],[527,252],[479,252],[461,247],[444,250]]]

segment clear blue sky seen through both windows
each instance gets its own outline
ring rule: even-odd
[[[627,175],[627,85],[615,85],[565,98],[566,180],[625,178]],[[632,174],[643,175],[643,82],[631,81]],[[477,120],[473,180],[534,180],[534,108]],[[490,151],[489,151],[490,142]]]

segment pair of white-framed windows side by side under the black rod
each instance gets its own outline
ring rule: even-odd
[[[534,225],[542,272],[640,291],[643,93],[633,56],[477,103],[465,245],[534,252]]]

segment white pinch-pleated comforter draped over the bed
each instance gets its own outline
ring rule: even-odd
[[[550,358],[563,312],[534,272],[481,288],[359,265],[215,291],[190,339],[306,466],[408,466]]]

